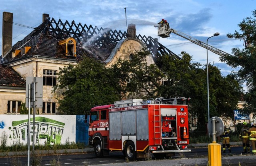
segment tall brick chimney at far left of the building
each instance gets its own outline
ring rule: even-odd
[[[12,13],[3,12],[2,58],[12,48],[12,20]]]

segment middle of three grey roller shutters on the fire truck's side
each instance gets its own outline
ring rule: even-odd
[[[136,134],[136,111],[123,111],[122,112],[122,135],[135,135]]]

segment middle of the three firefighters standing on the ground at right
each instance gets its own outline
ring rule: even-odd
[[[242,138],[242,143],[243,143],[243,153],[246,153],[246,149],[247,149],[247,153],[250,153],[250,140],[249,140],[249,134],[248,134],[248,130],[250,128],[247,126],[246,122],[243,122],[243,128],[240,131],[240,135],[239,138]]]

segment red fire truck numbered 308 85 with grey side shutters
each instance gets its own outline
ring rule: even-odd
[[[97,157],[119,150],[129,160],[148,151],[154,156],[190,152],[186,100],[130,99],[96,106],[90,111],[89,143]]]

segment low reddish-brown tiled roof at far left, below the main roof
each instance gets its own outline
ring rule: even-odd
[[[26,80],[11,67],[0,64],[0,86],[26,87]]]

